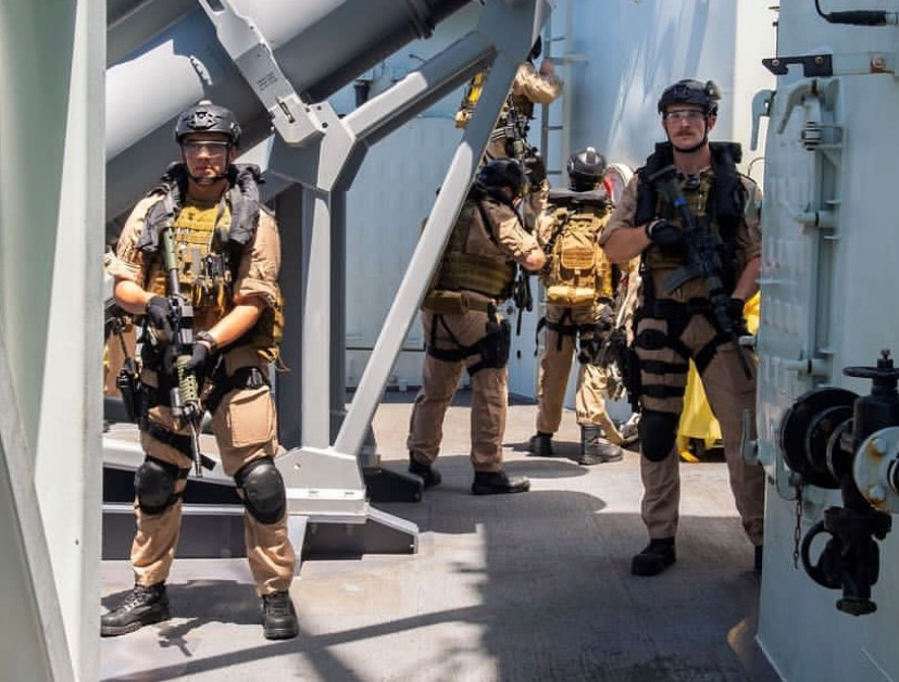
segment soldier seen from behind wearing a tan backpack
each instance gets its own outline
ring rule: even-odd
[[[571,190],[552,190],[547,210],[537,219],[537,240],[547,252],[540,279],[547,292],[547,312],[537,326],[546,327],[537,389],[537,433],[530,451],[554,455],[552,434],[562,421],[575,340],[579,348],[575,411],[580,425],[579,464],[619,462],[624,442],[605,412],[610,376],[600,364],[602,342],[615,323],[615,279],[612,265],[597,239],[609,222],[611,200],[602,189],[605,160],[592,147],[571,156]]]

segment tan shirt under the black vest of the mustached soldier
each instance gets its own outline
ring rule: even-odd
[[[700,172],[700,175],[711,173],[711,168],[706,168]],[[746,209],[744,211],[744,219],[740,220],[737,227],[736,235],[736,256],[737,256],[737,278],[739,278],[742,270],[750,261],[758,257],[762,252],[762,231],[761,231],[761,205],[762,192],[759,186],[750,178],[739,176],[740,181],[746,188],[747,199]],[[634,175],[630,181],[624,188],[621,199],[615,206],[609,224],[602,231],[599,238],[599,245],[604,245],[609,238],[620,229],[642,229],[642,225],[634,225],[634,218],[637,214],[637,185],[639,176]],[[654,249],[649,245],[648,249]],[[707,298],[708,290],[706,283],[699,279],[695,279],[685,283],[683,287],[676,289],[671,294],[665,293],[664,279],[672,270],[655,270],[652,273],[652,280],[655,290],[655,298],[671,299],[675,301],[688,301],[692,298]],[[729,291],[727,292],[731,293]]]

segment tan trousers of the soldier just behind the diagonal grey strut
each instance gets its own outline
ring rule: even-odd
[[[458,348],[447,328],[460,344],[467,346],[484,338],[487,320],[487,313],[479,311],[469,311],[464,315],[435,315],[422,311],[425,340],[430,344],[433,338],[435,348],[440,350]],[[425,354],[422,389],[415,397],[407,439],[407,447],[422,464],[433,464],[437,458],[444,438],[444,416],[455,395],[462,370],[478,362],[478,354],[458,362],[445,362]],[[505,367],[485,367],[472,377],[471,460],[475,471],[502,468],[502,437],[509,404],[507,383]]]

